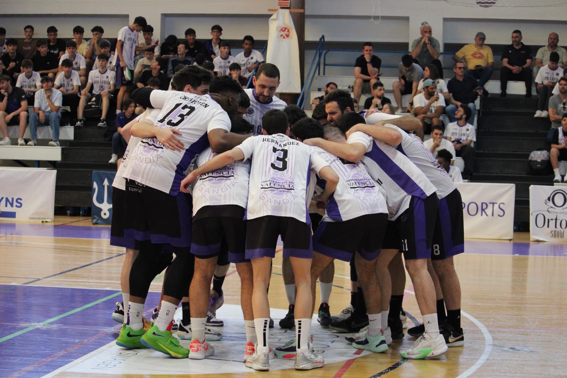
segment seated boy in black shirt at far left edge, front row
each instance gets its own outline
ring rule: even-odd
[[[28,100],[22,88],[12,87],[8,75],[0,76],[0,130],[4,139],[0,146],[10,146],[8,126],[19,125],[18,146],[25,146],[24,133],[28,124]]]

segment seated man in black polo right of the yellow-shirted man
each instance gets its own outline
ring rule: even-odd
[[[500,70],[500,97],[506,97],[508,80],[526,83],[526,97],[531,97],[532,56],[530,46],[522,43],[522,32],[512,32],[512,44],[502,50],[502,69]]]

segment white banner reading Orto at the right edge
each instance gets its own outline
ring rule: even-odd
[[[530,240],[567,241],[567,188],[530,186]]]

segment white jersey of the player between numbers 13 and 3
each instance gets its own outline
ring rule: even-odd
[[[210,147],[197,156],[195,168],[217,156]],[[238,205],[246,208],[250,162],[233,162],[203,173],[193,185],[193,216],[203,206]]]

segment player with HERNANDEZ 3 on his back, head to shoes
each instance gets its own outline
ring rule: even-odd
[[[238,84],[237,84],[238,85]],[[311,149],[287,137],[289,125],[284,112],[273,109],[264,114],[263,135],[249,138],[231,151],[215,156],[189,173],[181,185],[191,184],[199,175],[214,171],[235,161],[252,158],[248,203],[246,207],[246,257],[252,260],[254,287],[252,307],[258,344],[246,360],[246,366],[269,370],[268,325],[269,303],[266,289],[270,265],[276,252],[278,236],[284,241],[284,257],[289,257],[295,273],[297,300],[295,304],[295,332],[297,355],[295,369],[322,367],[323,358],[310,347],[311,292],[309,269],[312,245],[308,224],[307,197],[310,170],[327,180],[319,196],[325,206],[338,182],[336,173]],[[268,135],[270,135],[268,137]]]

